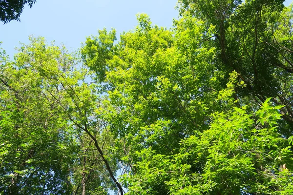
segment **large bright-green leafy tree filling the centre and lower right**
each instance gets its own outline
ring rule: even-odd
[[[103,63],[103,117],[128,165],[128,194],[292,192],[292,135],[282,129],[283,108],[269,99],[258,104],[241,73],[221,68],[216,26],[188,11],[173,32],[152,26],[146,15],[138,21],[108,47]],[[100,41],[87,39],[82,50],[97,75]]]

